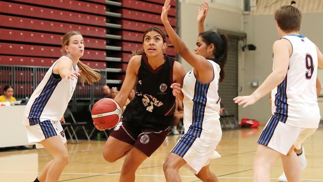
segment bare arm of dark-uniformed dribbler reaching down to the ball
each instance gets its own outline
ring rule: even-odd
[[[128,63],[126,77],[122,83],[121,89],[114,100],[122,108],[129,96],[130,91],[134,88],[137,81],[138,69],[140,67],[141,55],[136,55],[130,58]]]

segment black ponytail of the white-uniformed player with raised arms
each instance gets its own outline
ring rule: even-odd
[[[219,79],[219,82],[222,82],[224,77],[225,77],[225,71],[224,71],[224,65],[226,65],[227,63],[227,59],[228,59],[228,38],[225,34],[219,34],[219,36],[221,37],[222,39],[222,51],[220,52],[217,52],[216,53],[216,57],[215,57],[215,60],[216,60],[216,63],[219,64],[220,66],[220,79]]]

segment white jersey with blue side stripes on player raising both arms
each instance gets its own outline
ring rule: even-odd
[[[199,82],[195,78],[193,69],[186,74],[183,81],[185,131],[189,129],[190,125],[194,125],[193,127],[202,132],[204,121],[210,119],[217,121],[220,118],[220,97],[218,94],[220,66],[213,61],[208,61],[213,66],[214,79],[212,82],[208,84]],[[203,129],[205,126],[207,125],[203,124]],[[197,133],[197,136],[199,137],[200,134]]]

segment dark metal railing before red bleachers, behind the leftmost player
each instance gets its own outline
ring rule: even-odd
[[[30,97],[38,84],[44,78],[49,67],[34,66],[12,66],[0,65],[0,91],[3,91],[5,85],[11,85],[14,88],[13,96],[18,100]],[[92,86],[85,83],[83,87],[80,82],[74,91],[73,100],[93,100],[102,98],[101,88],[106,84],[106,71],[99,70],[101,74],[100,81]]]

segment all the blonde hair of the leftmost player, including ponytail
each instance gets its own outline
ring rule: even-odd
[[[74,35],[81,35],[82,34],[78,31],[70,31],[67,32],[63,36],[63,43],[62,43],[62,50],[65,54],[67,54],[65,50],[65,46],[68,46],[70,44],[70,38]],[[98,73],[98,70],[93,70],[87,65],[83,64],[80,60],[78,62],[78,66],[81,70],[81,84],[84,86],[84,82],[86,81],[89,85],[92,85],[94,82],[97,82],[100,80],[101,75]]]

